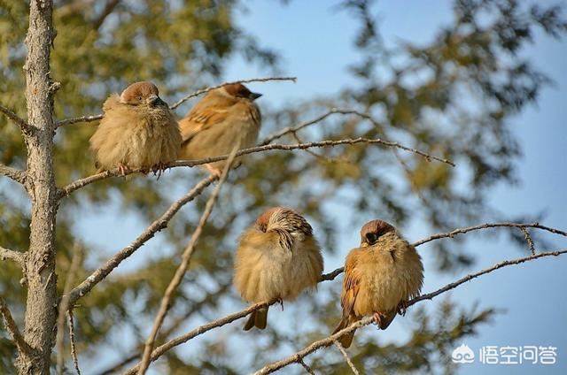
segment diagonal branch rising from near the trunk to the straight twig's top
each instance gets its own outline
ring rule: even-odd
[[[154,220],[151,225],[148,226],[144,230],[144,232],[136,238],[136,240],[132,241],[126,248],[121,249],[119,252],[114,254],[110,259],[106,261],[105,264],[97,268],[95,272],[92,272],[87,279],[83,280],[79,286],[74,287],[74,289],[69,293],[69,302],[68,306],[66,306],[66,309],[69,309],[70,306],[73,306],[74,302],[76,302],[83,295],[89,293],[89,291],[100,281],[105,279],[105,277],[108,276],[108,274],[112,272],[114,268],[118,267],[118,265],[124,259],[134,254],[137,249],[142,247],[142,245],[150,240],[156,233],[166,228],[169,220],[171,220],[171,218],[175,216],[178,210],[181,210],[183,205],[192,201],[196,196],[201,194],[201,192],[207,186],[211,185],[213,181],[217,179],[217,176],[211,175],[203,180],[200,180],[198,184],[190,190],[189,193],[183,195],[182,198],[172,203],[169,208],[163,213],[163,215]]]

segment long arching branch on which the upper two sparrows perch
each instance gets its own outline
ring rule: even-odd
[[[452,165],[454,166],[454,163],[450,160],[441,158],[441,157],[434,157],[426,152],[420,151],[418,149],[411,149],[409,147],[403,146],[398,142],[389,142],[389,141],[384,141],[381,139],[367,139],[367,138],[356,138],[356,139],[344,139],[344,140],[338,140],[338,141],[321,141],[321,142],[307,142],[307,143],[297,143],[297,144],[268,144],[268,145],[264,145],[264,146],[256,146],[256,147],[252,147],[250,149],[241,149],[237,152],[237,157],[241,156],[241,155],[247,155],[247,154],[252,154],[252,153],[256,153],[256,152],[262,152],[262,151],[269,151],[269,150],[284,150],[284,151],[290,151],[290,150],[294,150],[294,149],[311,149],[311,148],[317,148],[317,147],[330,147],[330,146],[340,146],[340,145],[345,145],[345,144],[357,144],[357,143],[366,143],[366,144],[380,144],[384,147],[395,147],[398,149],[404,149],[408,152],[413,152],[417,155],[420,155],[422,157],[425,157],[428,160],[437,160],[441,163],[445,163],[447,165]],[[214,163],[214,162],[218,162],[221,160],[226,160],[228,157],[228,155],[222,155],[219,157],[206,157],[204,159],[198,159],[198,160],[188,160],[188,161],[177,161],[177,162],[173,162],[173,163],[169,163],[167,164],[165,167],[166,168],[175,168],[175,167],[180,167],[180,166],[186,166],[186,167],[193,167],[196,165],[205,165],[205,164],[209,164],[209,163]],[[136,173],[136,172],[141,172],[139,170],[132,170],[129,172],[126,172],[126,174],[130,174],[130,173]],[[61,188],[59,190],[59,194],[58,197],[63,197],[65,195],[70,195],[71,193],[73,193],[75,190],[79,189],[79,188],[83,188],[93,182],[99,181],[99,180],[105,180],[109,177],[115,177],[115,176],[122,176],[123,173],[120,172],[118,169],[113,169],[112,171],[105,171],[105,172],[100,172],[97,174],[93,174],[92,176],[89,177],[85,177],[83,179],[80,180],[75,180],[74,182],[72,182],[71,184],[67,185],[64,188]]]

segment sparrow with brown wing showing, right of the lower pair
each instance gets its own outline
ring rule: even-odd
[[[392,225],[372,220],[361,228],[361,246],[346,256],[345,279],[340,297],[343,316],[333,333],[372,315],[386,329],[396,313],[405,314],[406,303],[419,295],[423,264],[416,248]],[[339,341],[348,348],[354,331]]]

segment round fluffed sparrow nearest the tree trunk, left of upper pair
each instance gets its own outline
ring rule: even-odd
[[[158,88],[141,81],[103,104],[103,119],[90,138],[99,171],[118,168],[162,172],[175,161],[182,137],[175,115],[159,98]]]

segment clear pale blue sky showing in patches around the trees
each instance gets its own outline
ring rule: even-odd
[[[542,3],[548,3],[542,2]],[[299,99],[316,95],[330,95],[352,82],[346,66],[356,61],[353,36],[356,22],[345,11],[333,10],[334,2],[295,0],[287,6],[277,2],[256,0],[246,2],[248,11],[240,15],[240,22],[263,45],[275,48],[283,56],[283,73],[298,77],[296,84],[268,82],[251,84],[260,91],[260,107],[293,105]],[[380,28],[384,40],[412,42],[431,41],[439,27],[451,21],[451,2],[448,1],[383,1],[377,9],[381,12]],[[544,211],[544,225],[567,228],[567,178],[564,151],[567,149],[567,42],[555,41],[537,34],[535,42],[523,51],[534,65],[555,80],[555,87],[541,90],[537,106],[531,106],[511,119],[524,156],[518,161],[518,186],[499,186],[493,189],[491,204],[505,217],[536,214]],[[245,64],[235,58],[226,80],[239,80],[265,76],[268,72],[259,66]],[[261,137],[262,134],[260,134]],[[113,213],[110,213],[112,216]],[[347,215],[345,215],[347,217]],[[503,215],[504,218],[504,215]],[[486,218],[483,221],[493,221]],[[99,223],[99,225],[96,225]],[[104,224],[101,224],[104,223]],[[95,224],[93,226],[93,224]],[[475,225],[480,223],[470,223]],[[117,228],[116,233],[108,227]],[[147,223],[136,218],[110,218],[109,212],[89,220],[83,220],[88,241],[103,249],[119,249],[129,239],[140,233]],[[346,223],[338,223],[346,227]],[[406,231],[409,241],[417,241],[431,234],[423,223],[415,220]],[[118,230],[120,228],[120,230]],[[502,230],[503,231],[503,230]],[[430,292],[459,279],[465,273],[480,270],[504,259],[524,256],[516,245],[505,236],[486,239],[475,233],[467,235],[467,248],[477,256],[477,263],[466,272],[439,276],[431,272],[431,248],[419,248],[425,261],[425,285],[423,292]],[[555,240],[555,237],[553,238]],[[567,241],[553,241],[553,249],[564,249]],[[341,253],[326,258],[326,271],[342,265],[349,249],[357,245],[358,233],[344,233],[340,239]],[[146,246],[159,247],[159,238]],[[136,261],[120,265],[123,271]],[[129,264],[129,265],[128,265]],[[429,266],[428,266],[429,264]],[[429,268],[429,270],[428,270]],[[554,346],[557,347],[557,364],[554,366],[487,365],[468,364],[459,369],[461,374],[483,371],[496,373],[567,373],[567,256],[549,257],[532,263],[511,266],[458,287],[446,294],[465,307],[475,303],[479,308],[496,307],[505,310],[498,314],[491,325],[479,327],[479,334],[464,341],[477,351],[488,345],[497,346]],[[429,272],[428,272],[429,271]],[[337,287],[338,287],[337,283]],[[443,298],[425,302],[431,310]],[[232,307],[229,310],[237,310]],[[373,331],[376,332],[376,331]],[[388,330],[377,333],[381,341],[402,342],[407,337],[408,319],[397,318]],[[297,348],[299,349],[299,348]]]

